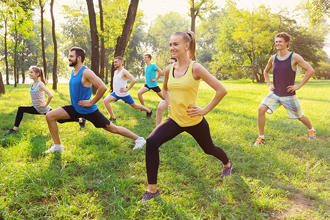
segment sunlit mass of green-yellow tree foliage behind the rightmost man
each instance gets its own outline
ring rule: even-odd
[[[253,76],[262,79],[268,59],[277,52],[274,36],[280,32],[291,35],[289,50],[312,65],[317,66],[317,62],[326,57],[322,49],[329,32],[328,26],[318,23],[313,27],[303,27],[290,18],[286,10],[272,13],[270,8],[261,5],[250,12],[237,9],[233,1],[228,1],[223,9],[210,15],[202,27],[206,27],[202,29],[204,33],[208,31],[205,39],[211,39],[209,43],[213,45],[204,44],[208,45],[208,51],[215,50],[211,52],[211,72],[219,78],[251,77],[254,64],[257,75]],[[216,31],[210,32],[207,27]]]

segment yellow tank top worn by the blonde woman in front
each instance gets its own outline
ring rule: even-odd
[[[168,88],[170,90],[171,111],[169,117],[172,118],[180,127],[194,126],[201,122],[203,116],[198,115],[190,117],[187,115],[189,106],[197,106],[196,97],[200,80],[195,80],[193,77],[193,64],[190,63],[188,70],[183,77],[176,79],[173,77],[172,64],[169,72]]]

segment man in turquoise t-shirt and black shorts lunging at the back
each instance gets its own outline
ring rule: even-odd
[[[141,105],[145,105],[145,101],[143,99],[143,94],[150,89],[154,90],[157,95],[160,97],[160,99],[163,98],[163,95],[161,93],[161,90],[158,86],[157,80],[161,77],[163,72],[156,64],[151,63],[151,55],[146,54],[144,56],[144,61],[146,63],[145,66],[145,74],[146,74],[146,84],[140,88],[140,90],[137,92],[138,100],[140,101]],[[158,72],[158,76],[156,78],[156,72]]]

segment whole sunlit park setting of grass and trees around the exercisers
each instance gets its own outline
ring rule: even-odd
[[[0,1],[3,134],[12,128],[17,107],[31,105],[27,84],[31,81],[25,79],[30,65],[46,69],[47,86],[54,94],[53,108],[70,102],[68,84],[53,83],[53,79],[67,82],[71,71],[67,54],[72,46],[85,48],[85,65],[101,77],[103,71],[104,82],[110,82],[117,37],[127,34],[123,27],[129,4],[134,1],[94,1],[96,29],[90,28],[92,13],[87,2],[91,3],[55,1],[52,30],[51,1]],[[104,31],[100,27],[100,3]],[[132,151],[133,143],[127,138],[88,123],[83,130],[69,123],[60,125],[65,153],[43,157],[41,152],[52,145],[45,119],[25,115],[18,133],[0,138],[0,219],[329,218],[330,82],[325,80],[330,77],[329,2],[192,4],[193,1],[140,1],[128,45],[117,53],[123,53],[124,65],[135,78],[143,77],[145,53],[151,53],[152,61],[164,69],[171,57],[168,44],[172,33],[192,30],[191,8],[195,15],[198,12],[197,59],[228,90],[224,100],[205,117],[215,143],[235,164],[232,176],[221,180],[221,164],[205,155],[193,138],[181,134],[160,150],[162,196],[139,205],[136,202],[147,184],[144,150]],[[40,5],[44,7],[43,22]],[[274,35],[281,31],[292,36],[289,50],[300,54],[316,70],[314,79],[297,93],[318,138],[308,140],[304,126],[289,120],[281,108],[267,116],[266,144],[263,148],[253,147],[257,106],[268,92],[265,83],[257,82],[263,82],[262,71],[276,53]],[[98,36],[97,41],[91,41],[93,34]],[[299,67],[297,75],[296,83],[304,76]],[[162,79],[159,82],[161,87]],[[139,79],[131,89],[136,102],[143,83],[144,79]],[[110,85],[108,88],[111,90]],[[202,82],[198,104],[205,106],[213,94]],[[146,93],[145,100],[153,110],[160,101],[151,92]],[[99,108],[106,114],[102,102]],[[155,126],[154,117],[145,118],[145,114],[126,108],[124,103],[113,104],[113,109],[118,125],[145,138]],[[166,115],[164,112],[163,118]]]

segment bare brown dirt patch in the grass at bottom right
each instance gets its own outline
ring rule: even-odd
[[[286,219],[291,215],[307,212],[307,210],[315,210],[316,208],[304,197],[302,192],[295,192],[292,195],[288,195],[287,198],[292,202],[288,209],[275,214],[275,216],[270,217],[269,220]]]

